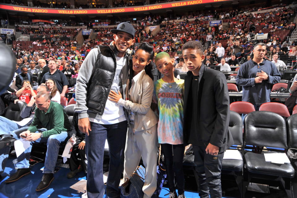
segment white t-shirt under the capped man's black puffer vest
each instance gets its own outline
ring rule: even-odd
[[[122,68],[123,68],[123,59],[124,57],[117,58],[117,69],[115,71],[114,80],[112,82],[111,90],[118,93],[120,89],[120,83],[122,83]],[[107,99],[105,104],[105,109],[100,121],[95,121],[95,119],[89,118],[91,122],[97,122],[103,125],[110,125],[119,123],[126,120],[124,114],[124,108],[117,103]]]

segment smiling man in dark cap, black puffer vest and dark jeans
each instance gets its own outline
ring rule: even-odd
[[[134,44],[135,29],[129,23],[118,24],[112,29],[114,41],[110,46],[96,46],[83,64],[76,81],[75,112],[79,116],[79,129],[86,134],[88,160],[88,198],[104,196],[103,156],[104,143],[109,145],[109,176],[106,194],[119,198],[119,182],[123,171],[127,134],[127,116],[122,106],[108,99],[110,90],[123,93],[128,80],[126,50]]]

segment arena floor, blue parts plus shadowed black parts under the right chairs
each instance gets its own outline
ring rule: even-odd
[[[41,161],[31,167],[31,174],[24,176],[16,182],[6,184],[4,181],[9,177],[8,175],[14,174],[16,170],[14,169],[12,160],[14,157],[9,157],[6,162],[6,168],[0,178],[0,198],[80,198],[82,192],[78,192],[70,186],[77,183],[81,179],[86,179],[86,174],[84,172],[78,173],[74,178],[68,179],[66,177],[69,169],[61,168],[57,173],[54,174],[54,181],[51,183],[48,189],[36,192],[35,189],[42,178],[42,171],[40,170],[44,163]],[[185,178],[186,179],[186,189],[196,189],[195,178]],[[233,180],[233,179],[232,179]],[[222,188],[226,196],[224,198],[236,198],[240,197],[238,188],[235,182],[222,181]],[[233,184],[232,184],[233,183]],[[168,189],[162,189],[160,193],[160,198],[167,198]],[[166,195],[166,196],[165,196]],[[197,192],[185,191],[185,196],[187,198],[199,198]],[[247,191],[245,194],[246,198],[285,198],[286,195],[282,190],[274,190],[270,188],[270,193],[258,193],[254,191]],[[107,198],[107,196],[104,196]]]

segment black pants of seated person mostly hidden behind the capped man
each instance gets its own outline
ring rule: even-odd
[[[76,143],[73,145],[71,156],[69,158],[69,168],[71,171],[74,171],[75,169],[78,169],[79,165],[82,166],[84,172],[87,172],[87,165],[86,165],[86,152],[85,147],[84,149],[79,149],[78,145],[82,142],[81,139],[76,137]],[[78,159],[80,158],[80,160]]]

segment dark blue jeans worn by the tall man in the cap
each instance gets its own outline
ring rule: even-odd
[[[86,135],[88,198],[103,198],[104,196],[103,157],[106,139],[110,156],[106,195],[110,198],[120,197],[118,186],[124,169],[127,121],[110,125],[91,122],[91,129],[89,136]]]

